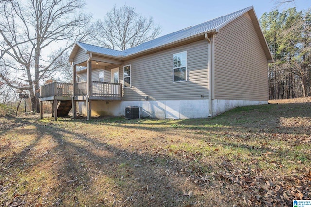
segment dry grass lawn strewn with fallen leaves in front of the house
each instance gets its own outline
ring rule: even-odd
[[[291,206],[311,199],[311,99],[211,119],[0,117],[1,206]]]

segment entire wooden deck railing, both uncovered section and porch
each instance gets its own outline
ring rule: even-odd
[[[75,84],[75,96],[87,95],[87,82]],[[40,88],[40,97],[72,96],[73,85],[71,83],[53,82]],[[122,84],[110,82],[92,81],[92,95],[96,97],[122,97]]]

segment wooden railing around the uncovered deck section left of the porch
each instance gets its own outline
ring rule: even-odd
[[[40,87],[40,97],[72,96],[73,86],[70,83],[52,82]]]

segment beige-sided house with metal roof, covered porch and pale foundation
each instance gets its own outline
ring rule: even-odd
[[[77,42],[69,61],[73,91],[85,84],[73,111],[88,119],[125,115],[127,106],[143,117],[188,119],[267,104],[273,58],[251,6],[124,51]],[[109,93],[98,89],[108,82]]]

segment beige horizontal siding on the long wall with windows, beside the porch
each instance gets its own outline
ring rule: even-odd
[[[173,83],[173,54],[183,51],[187,51],[187,81]],[[124,101],[141,100],[145,96],[148,100],[208,99],[208,44],[205,40],[143,56],[124,65],[131,65],[131,88],[124,88]],[[119,70],[121,83],[123,66]]]

